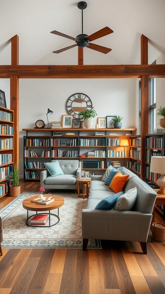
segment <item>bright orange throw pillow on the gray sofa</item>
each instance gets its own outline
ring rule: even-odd
[[[109,188],[112,189],[115,193],[119,193],[123,191],[129,175],[122,175],[120,171],[118,171],[112,179]]]

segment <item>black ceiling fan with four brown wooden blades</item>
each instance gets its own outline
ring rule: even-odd
[[[82,11],[82,34],[76,36],[76,38],[73,38],[73,37],[70,37],[70,36],[65,35],[63,33],[60,33],[58,31],[50,32],[52,34],[65,37],[67,39],[71,39],[71,40],[76,42],[76,44],[74,44],[74,45],[71,45],[71,46],[68,46],[68,47],[53,51],[53,53],[61,53],[63,51],[71,49],[71,48],[73,48],[75,46],[78,46],[80,48],[87,47],[89,49],[93,49],[93,50],[99,51],[99,52],[104,53],[104,54],[107,54],[108,52],[110,52],[112,49],[107,48],[107,47],[103,47],[103,46],[100,46],[100,45],[97,45],[97,44],[93,44],[93,43],[90,43],[90,42],[94,41],[96,39],[99,39],[99,38],[101,38],[103,36],[107,36],[107,35],[113,33],[113,31],[108,26],[106,26],[105,28],[93,33],[90,36],[84,34],[83,33],[83,9],[85,9],[87,7],[87,3],[84,2],[84,1],[81,1],[81,2],[79,2],[77,4],[77,6]]]

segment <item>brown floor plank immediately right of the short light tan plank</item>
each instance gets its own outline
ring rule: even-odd
[[[67,249],[59,294],[75,294],[77,249]]]

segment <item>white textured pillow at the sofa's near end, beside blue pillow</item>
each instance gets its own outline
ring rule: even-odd
[[[132,188],[121,195],[113,208],[113,210],[131,210],[137,198],[137,188]]]

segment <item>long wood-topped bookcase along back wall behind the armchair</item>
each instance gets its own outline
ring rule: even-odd
[[[40,180],[40,172],[45,169],[44,162],[54,159],[78,159],[85,171],[102,174],[111,161],[124,163],[124,147],[120,146],[122,138],[130,140],[129,129],[23,129],[26,131],[24,141],[24,181]],[[95,135],[96,131],[103,134]],[[125,133],[130,132],[130,136]],[[55,132],[61,132],[54,136]],[[66,136],[66,133],[75,133]],[[109,135],[111,133],[111,136]],[[116,133],[116,136],[115,136]],[[119,145],[116,145],[118,140]],[[113,153],[113,154],[112,154]],[[125,159],[130,158],[129,146],[125,149]]]

